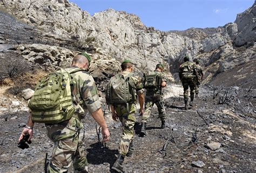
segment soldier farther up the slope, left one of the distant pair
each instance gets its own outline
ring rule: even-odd
[[[183,85],[184,89],[184,102],[185,102],[185,110],[187,108],[188,102],[188,86],[190,87],[190,106],[193,106],[194,100],[194,77],[195,77],[195,69],[196,64],[194,62],[189,62],[189,58],[187,55],[184,56],[184,63],[179,67],[179,78]]]

